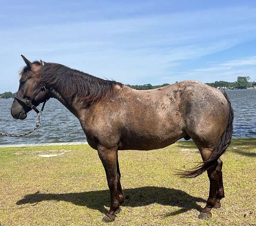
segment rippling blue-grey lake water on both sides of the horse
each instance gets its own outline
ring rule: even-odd
[[[256,89],[226,92],[235,114],[233,138],[256,138]],[[13,99],[0,99],[0,132],[18,134],[34,128],[37,121],[35,112],[29,112],[26,120],[15,120],[10,114],[12,102]],[[38,130],[26,137],[0,136],[0,145],[83,141],[86,137],[79,120],[55,99],[47,102]]]

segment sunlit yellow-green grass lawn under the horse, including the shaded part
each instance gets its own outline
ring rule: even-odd
[[[40,157],[38,154],[58,154]],[[222,160],[225,198],[199,220],[209,191],[206,173],[174,176],[201,157],[192,142],[152,151],[120,151],[122,212],[105,225],[256,225],[256,140],[233,140]],[[105,171],[88,145],[0,149],[3,225],[104,225],[110,198]]]

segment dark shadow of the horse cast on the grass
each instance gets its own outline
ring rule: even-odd
[[[177,215],[190,209],[201,211],[201,206],[196,202],[206,202],[206,200],[202,198],[193,197],[181,190],[155,186],[124,189],[123,192],[127,198],[122,206],[135,207],[159,203],[161,205],[178,206],[181,208],[175,212],[167,213],[166,215]],[[87,206],[90,209],[97,209],[102,213],[106,212],[104,206],[110,205],[109,190],[64,194],[44,194],[36,192],[35,194],[26,195],[23,199],[17,201],[16,204],[38,203],[44,200],[66,201],[78,206]]]

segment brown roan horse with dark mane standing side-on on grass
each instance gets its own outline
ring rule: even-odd
[[[26,66],[20,72],[17,97],[30,103],[15,98],[11,114],[23,120],[32,106],[56,98],[79,119],[107,177],[111,206],[104,222],[113,221],[125,201],[118,151],[160,149],[181,138],[194,141],[203,161],[177,175],[191,178],[207,171],[209,177],[209,197],[198,217],[212,217],[211,209],[221,207],[220,156],[233,133],[233,109],[226,93],[192,80],[140,91],[58,63],[30,62],[21,56]]]

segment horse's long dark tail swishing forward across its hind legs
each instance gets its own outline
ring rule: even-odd
[[[234,113],[226,92],[224,92],[223,94],[229,106],[228,123],[224,133],[222,134],[215,148],[212,150],[210,157],[204,162],[199,163],[196,167],[192,169],[189,169],[186,171],[179,171],[177,175],[179,175],[180,177],[192,178],[192,177],[197,177],[201,175],[203,172],[211,168],[216,163],[218,158],[221,157],[221,154],[223,154],[226,151],[227,147],[230,145],[232,133],[233,133]]]

